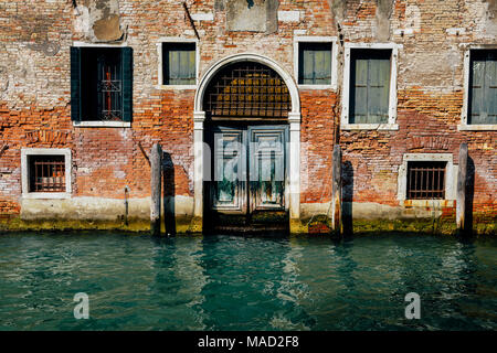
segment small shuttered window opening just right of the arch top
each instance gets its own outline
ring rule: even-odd
[[[331,45],[330,42],[298,43],[298,84],[331,84]]]

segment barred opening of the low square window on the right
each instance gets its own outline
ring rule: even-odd
[[[408,200],[444,200],[446,162],[408,162]]]

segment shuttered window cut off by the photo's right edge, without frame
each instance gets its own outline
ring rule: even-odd
[[[468,124],[497,124],[497,50],[474,50],[469,64]]]

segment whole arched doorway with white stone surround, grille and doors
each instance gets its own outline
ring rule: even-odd
[[[295,83],[272,60],[235,55],[205,73],[194,115],[204,231],[281,231],[298,218],[299,118]]]

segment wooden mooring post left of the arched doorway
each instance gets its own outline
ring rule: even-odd
[[[154,145],[150,153],[150,233],[160,235],[160,200],[161,200],[161,171],[162,171],[162,148],[159,143]]]

